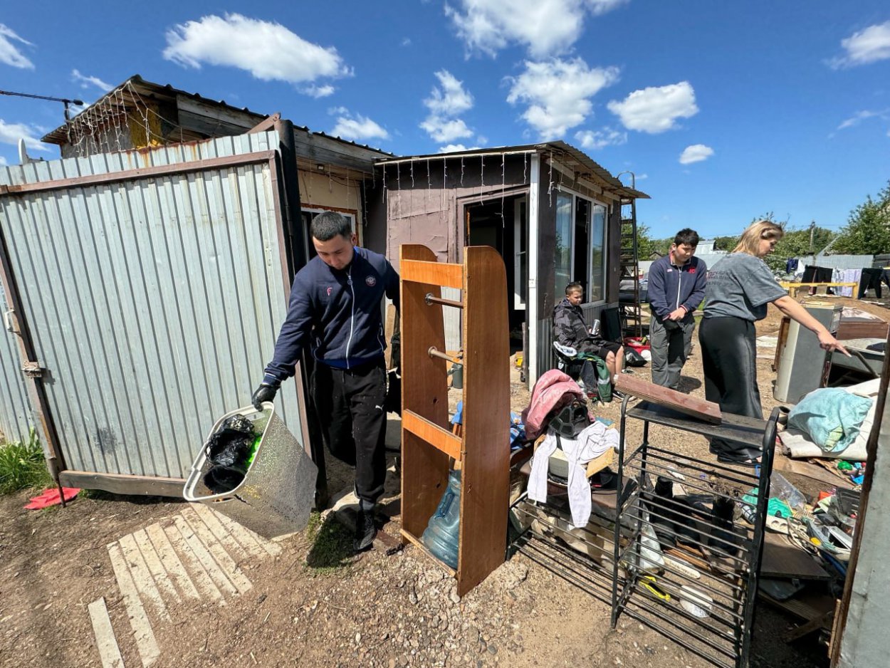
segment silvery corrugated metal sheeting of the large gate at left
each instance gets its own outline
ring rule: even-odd
[[[224,137],[13,167],[0,183],[277,146]],[[258,163],[0,198],[69,469],[183,477],[218,416],[249,403],[287,311],[271,177]],[[295,383],[280,398],[299,437]]]

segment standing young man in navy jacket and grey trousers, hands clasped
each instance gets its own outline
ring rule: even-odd
[[[680,385],[680,371],[692,349],[692,314],[705,298],[708,267],[695,257],[698,245],[698,232],[680,230],[667,255],[649,270],[652,382],[671,389]]]

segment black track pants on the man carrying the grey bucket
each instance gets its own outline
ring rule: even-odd
[[[317,363],[312,398],[328,452],[355,467],[355,490],[376,502],[384,492],[386,371],[383,358],[351,370]]]

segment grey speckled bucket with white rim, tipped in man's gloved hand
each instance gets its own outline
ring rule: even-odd
[[[244,480],[229,492],[213,493],[204,484],[211,467],[207,441],[232,415],[243,415],[260,434],[260,444]],[[302,531],[309,522],[315,499],[318,468],[293,434],[275,413],[275,405],[263,403],[263,411],[253,406],[223,415],[210,430],[201,452],[191,465],[182,496],[223,513],[260,534],[274,538]]]

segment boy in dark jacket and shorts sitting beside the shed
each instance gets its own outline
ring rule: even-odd
[[[595,354],[601,357],[614,383],[624,366],[624,346],[606,341],[587,329],[581,312],[583,298],[584,288],[580,283],[569,283],[565,287],[565,298],[554,308],[554,341],[562,346],[575,348],[578,354]],[[594,394],[596,374],[593,363],[589,360],[581,367],[581,380],[584,382],[587,395]],[[612,395],[619,399],[624,398],[616,389],[612,389]]]

